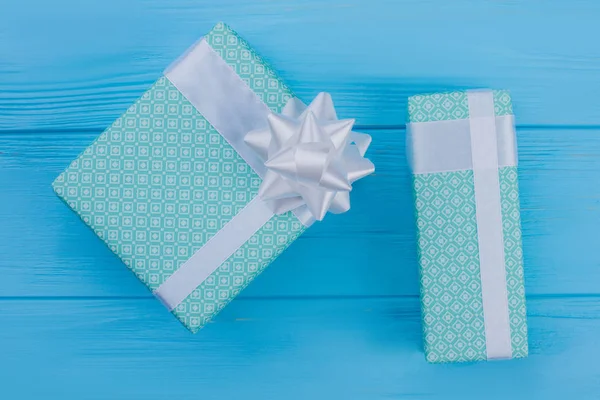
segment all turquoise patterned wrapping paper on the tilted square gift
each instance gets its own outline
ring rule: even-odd
[[[293,96],[228,26],[209,45],[273,111]],[[53,188],[150,290],[258,193],[259,176],[161,77],[54,181]],[[198,331],[306,228],[275,215],[173,314]]]

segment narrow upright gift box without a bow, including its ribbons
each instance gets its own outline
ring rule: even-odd
[[[408,106],[426,358],[526,357],[510,95],[418,95]]]

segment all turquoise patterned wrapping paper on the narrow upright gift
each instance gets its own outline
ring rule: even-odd
[[[495,115],[512,115],[494,91]],[[466,92],[409,98],[409,122],[469,118]],[[512,357],[526,357],[527,323],[517,168],[499,168]],[[486,359],[473,171],[414,175],[424,345],[429,362]]]

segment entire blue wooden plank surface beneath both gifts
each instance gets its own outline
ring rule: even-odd
[[[0,398],[597,399],[600,3],[4,0]],[[218,20],[305,99],[333,93],[377,173],[190,335],[50,182]],[[510,89],[531,356],[428,365],[406,97]]]

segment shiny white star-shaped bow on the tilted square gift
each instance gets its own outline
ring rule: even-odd
[[[306,205],[321,221],[328,211],[348,211],[352,183],[375,171],[364,158],[371,136],[353,132],[353,119],[338,120],[328,93],[308,107],[292,98],[268,120],[268,128],[248,132],[244,141],[267,167],[258,194],[273,212]]]

